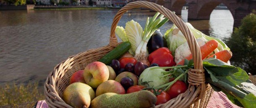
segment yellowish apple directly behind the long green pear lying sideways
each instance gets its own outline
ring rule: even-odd
[[[104,93],[125,94],[125,89],[119,82],[115,80],[107,80],[97,87],[96,97]]]

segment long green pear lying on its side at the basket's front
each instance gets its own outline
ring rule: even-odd
[[[129,94],[104,93],[91,101],[90,108],[149,108],[157,97],[148,90]]]

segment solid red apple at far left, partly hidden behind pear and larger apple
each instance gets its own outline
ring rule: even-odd
[[[73,73],[71,78],[70,78],[69,84],[72,84],[74,82],[85,83],[84,75],[83,74],[84,74],[84,70],[78,70],[75,73]]]

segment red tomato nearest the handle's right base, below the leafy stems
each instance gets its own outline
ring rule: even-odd
[[[177,80],[167,91],[167,93],[170,95],[171,99],[176,98],[181,93],[184,93],[188,87],[186,86],[185,82]]]

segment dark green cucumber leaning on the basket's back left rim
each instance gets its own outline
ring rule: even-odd
[[[112,59],[118,59],[123,54],[125,54],[130,48],[131,48],[131,43],[128,41],[125,41],[120,45],[118,45],[117,47],[115,47],[115,49],[107,53],[104,57],[99,59],[99,62],[102,62],[108,65],[111,63]]]

